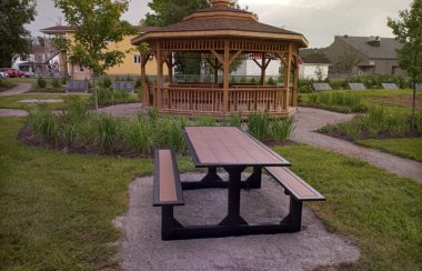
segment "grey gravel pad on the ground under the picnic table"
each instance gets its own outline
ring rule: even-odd
[[[188,173],[181,179],[200,177]],[[289,198],[274,180],[264,177],[262,181],[262,189],[242,191],[242,217],[252,223],[280,222],[288,213]],[[185,205],[174,209],[181,223],[218,223],[224,217],[227,189],[183,193]],[[151,195],[152,178],[135,179],[130,184],[128,213],[114,220],[124,232],[120,254],[124,270],[312,270],[360,257],[356,247],[328,232],[307,208],[302,231],[297,233],[161,241],[161,210],[152,207]]]

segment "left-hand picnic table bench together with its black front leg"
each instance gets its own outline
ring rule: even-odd
[[[184,198],[174,151],[155,150],[153,207],[161,207],[162,209],[162,240],[170,240],[172,230],[182,228],[173,217],[175,205],[184,205]]]

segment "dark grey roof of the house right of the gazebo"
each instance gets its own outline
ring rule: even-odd
[[[369,37],[336,36],[335,39],[353,47],[370,59],[396,59],[402,43],[393,38],[380,38],[380,46],[371,46]]]

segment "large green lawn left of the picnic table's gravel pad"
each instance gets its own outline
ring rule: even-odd
[[[1,270],[114,267],[111,221],[127,211],[130,180],[152,173],[152,160],[27,147],[17,139],[22,123],[0,118]]]

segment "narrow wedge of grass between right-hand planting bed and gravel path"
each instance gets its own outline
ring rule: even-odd
[[[358,140],[356,143],[422,162],[422,138]]]

